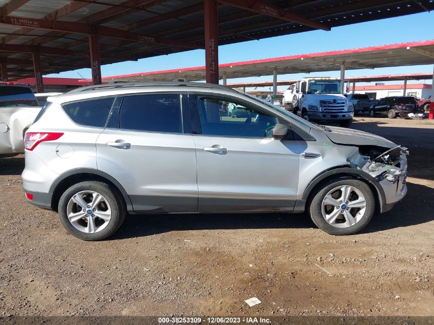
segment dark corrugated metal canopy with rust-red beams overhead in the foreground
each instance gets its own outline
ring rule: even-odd
[[[219,45],[434,9],[431,0],[217,2]],[[0,0],[0,64],[11,80],[33,76],[29,51],[43,74],[90,67],[89,35],[98,35],[99,64],[204,48],[203,0]]]

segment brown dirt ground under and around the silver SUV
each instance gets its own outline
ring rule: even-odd
[[[346,237],[306,214],[153,215],[85,242],[25,202],[22,155],[0,159],[0,316],[434,315],[434,123],[356,120],[409,148],[408,195]]]

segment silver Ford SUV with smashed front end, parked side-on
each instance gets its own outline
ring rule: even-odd
[[[44,106],[25,148],[27,201],[84,240],[111,236],[127,213],[307,211],[348,235],[407,192],[406,148],[203,83],[70,91]]]

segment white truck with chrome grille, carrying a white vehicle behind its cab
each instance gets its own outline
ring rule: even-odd
[[[344,127],[350,126],[354,117],[353,104],[341,93],[337,78],[298,80],[285,90],[283,105],[306,120],[338,122]]]

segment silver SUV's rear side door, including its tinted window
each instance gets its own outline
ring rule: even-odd
[[[182,105],[186,98],[180,93],[118,98],[97,140],[98,169],[121,183],[135,212],[197,212],[196,152],[188,102]]]

